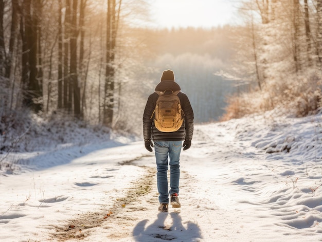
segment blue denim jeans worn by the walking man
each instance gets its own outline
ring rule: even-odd
[[[169,194],[179,194],[180,153],[182,141],[155,141],[154,151],[157,168],[159,202],[169,203]],[[170,165],[170,191],[168,191],[168,162]]]

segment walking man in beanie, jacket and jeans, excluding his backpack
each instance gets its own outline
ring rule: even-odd
[[[159,97],[158,91],[178,92],[181,108],[184,113],[182,126],[174,132],[161,132],[154,124],[154,110]],[[180,153],[181,148],[188,150],[191,146],[193,135],[193,110],[186,94],[181,92],[180,86],[174,80],[172,70],[163,71],[160,83],[148,98],[143,115],[143,135],[145,147],[152,152],[155,150],[157,165],[157,189],[159,192],[159,211],[168,212],[169,194],[172,208],[180,208],[178,199],[180,178]],[[152,141],[154,142],[154,145]],[[183,144],[182,144],[182,141]],[[169,160],[168,160],[169,157]],[[169,162],[169,163],[168,163]],[[170,190],[168,190],[168,164],[170,165]]]

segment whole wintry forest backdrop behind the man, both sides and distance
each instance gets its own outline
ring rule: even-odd
[[[237,3],[239,25],[151,29],[144,0],[0,0],[2,142],[39,119],[140,135],[169,68],[197,123],[319,110],[322,1]]]

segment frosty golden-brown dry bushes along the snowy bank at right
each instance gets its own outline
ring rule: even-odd
[[[227,97],[226,113],[220,121],[241,118],[281,106],[296,117],[312,115],[322,107],[321,80],[319,73],[313,71],[308,75],[267,81],[262,90]]]

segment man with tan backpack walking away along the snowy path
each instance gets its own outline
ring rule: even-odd
[[[160,202],[158,210],[168,212],[169,195],[172,208],[180,208],[180,153],[182,147],[185,151],[191,146],[193,110],[187,95],[175,82],[172,70],[163,71],[160,83],[148,98],[143,115],[143,135],[146,149],[152,152],[154,147],[155,151]]]

